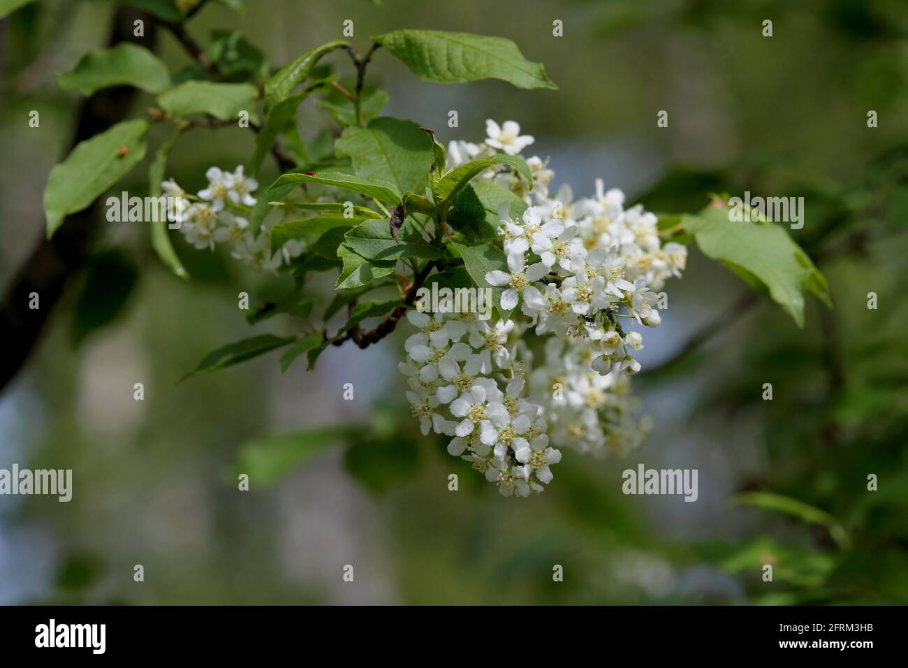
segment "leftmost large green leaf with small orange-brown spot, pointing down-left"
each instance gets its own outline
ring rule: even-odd
[[[54,165],[44,187],[47,238],[66,215],[82,211],[129,172],[147,148],[145,121],[123,121],[76,145],[62,163]],[[125,155],[121,155],[122,149]]]

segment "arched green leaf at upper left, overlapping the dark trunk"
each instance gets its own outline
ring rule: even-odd
[[[167,65],[144,46],[123,42],[89,51],[73,70],[57,75],[56,82],[64,90],[82,95],[112,85],[133,85],[148,93],[160,93],[170,86],[170,73]]]

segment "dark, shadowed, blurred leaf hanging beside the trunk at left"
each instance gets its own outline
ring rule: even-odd
[[[138,277],[135,265],[121,253],[108,251],[91,258],[75,304],[76,344],[123,311]]]

